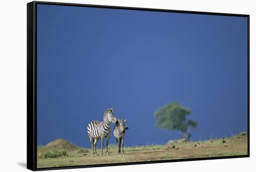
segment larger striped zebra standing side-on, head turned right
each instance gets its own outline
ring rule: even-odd
[[[93,156],[94,156],[94,148],[95,148],[95,154],[98,155],[96,151],[96,144],[99,139],[101,139],[101,155],[103,155],[103,139],[105,137],[106,137],[106,153],[109,155],[108,140],[109,140],[110,131],[111,131],[110,124],[111,122],[116,123],[117,121],[113,111],[114,111],[113,108],[108,108],[104,113],[103,121],[101,122],[91,121],[88,124],[87,132],[93,148]]]

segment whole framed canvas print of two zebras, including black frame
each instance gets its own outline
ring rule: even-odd
[[[249,15],[27,4],[27,168],[249,157]]]

